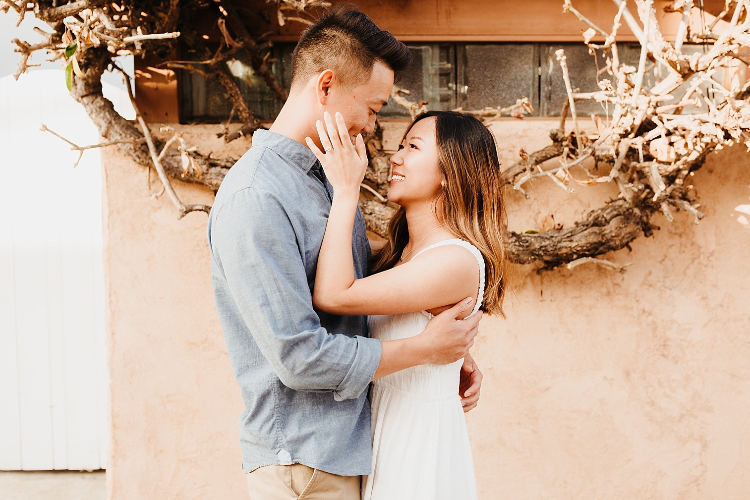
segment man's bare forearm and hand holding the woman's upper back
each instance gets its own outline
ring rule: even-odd
[[[373,379],[415,367],[419,364],[449,364],[469,354],[474,344],[481,311],[466,319],[474,299],[466,298],[430,320],[425,331],[415,337],[383,342],[383,354]]]

